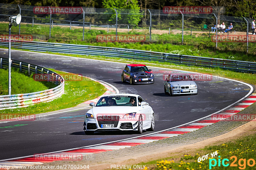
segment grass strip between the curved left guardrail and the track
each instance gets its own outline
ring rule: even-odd
[[[51,70],[59,74],[67,74],[61,71],[53,69]],[[82,81],[65,81],[64,94],[61,97],[54,99],[52,102],[38,103],[32,106],[28,106],[26,108],[1,110],[1,114],[33,115],[38,113],[46,113],[50,111],[66,109],[74,107],[77,104],[83,103],[87,100],[94,99],[102,95],[105,91],[106,88],[103,85],[90,79],[83,78]]]

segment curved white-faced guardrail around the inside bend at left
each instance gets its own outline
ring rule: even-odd
[[[21,107],[28,107],[35,103],[50,102],[53,99],[61,96],[64,93],[64,79],[57,73],[48,70],[44,67],[36,66],[26,62],[12,60],[12,68],[17,68],[20,72],[25,71],[36,74],[49,74],[57,81],[52,81],[55,84],[59,84],[55,88],[47,89],[44,91],[38,91],[26,94],[15,94],[15,95],[1,95],[0,96],[0,110],[4,109],[15,109]],[[8,68],[8,59],[0,58],[0,68]]]

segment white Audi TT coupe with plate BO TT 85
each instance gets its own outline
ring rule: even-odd
[[[94,131],[154,131],[155,114],[144,99],[135,94],[105,95],[90,103],[84,118],[85,134]]]

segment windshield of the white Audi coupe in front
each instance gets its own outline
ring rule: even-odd
[[[101,97],[95,107],[100,106],[137,106],[134,96],[105,96]]]

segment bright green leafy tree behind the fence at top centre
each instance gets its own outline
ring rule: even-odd
[[[111,23],[116,22],[116,12],[114,11],[114,8],[118,13],[118,24],[138,25],[142,18],[137,0],[103,0],[102,5],[104,8],[113,10],[113,15],[111,15],[108,20]]]

